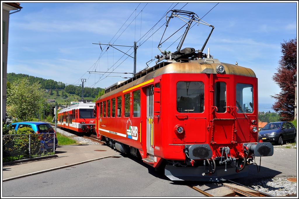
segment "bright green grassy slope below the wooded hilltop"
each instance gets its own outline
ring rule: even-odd
[[[67,95],[67,98],[62,97],[62,92],[64,92],[65,95]],[[70,104],[71,101],[78,101],[82,99],[82,96],[75,95],[75,94],[68,94],[67,92],[64,91],[64,89],[58,90],[58,96],[56,95],[55,90],[52,90],[52,95],[50,95],[49,92],[46,92],[45,97],[47,99],[55,100],[57,104],[62,104],[62,105]],[[94,100],[94,98],[91,97],[84,97],[84,99]]]

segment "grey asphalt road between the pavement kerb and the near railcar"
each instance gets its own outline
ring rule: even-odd
[[[134,158],[106,158],[3,182],[4,197],[201,197]]]

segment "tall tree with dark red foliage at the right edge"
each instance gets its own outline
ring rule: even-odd
[[[278,84],[281,92],[271,95],[276,99],[272,108],[280,115],[280,120],[294,120],[294,104],[295,104],[295,75],[297,70],[297,38],[288,42],[284,40],[281,44],[281,59],[278,61],[277,73],[274,73],[272,79]]]

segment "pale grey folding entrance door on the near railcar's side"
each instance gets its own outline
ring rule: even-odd
[[[154,85],[147,87],[147,153],[149,154],[149,159],[154,160]]]

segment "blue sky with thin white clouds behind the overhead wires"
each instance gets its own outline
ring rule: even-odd
[[[204,53],[210,48],[210,54],[221,62],[234,64],[237,61],[239,66],[251,68],[258,78],[259,103],[273,103],[274,99],[270,95],[280,92],[272,80],[281,56],[280,43],[294,39],[297,35],[298,4],[295,1],[220,2],[216,7],[217,2],[194,1],[188,4],[142,1],[20,3],[23,9],[10,15],[7,72],[69,84],[81,84],[81,78],[85,78],[84,85],[89,87],[105,88],[131,75],[99,75],[87,71],[133,72],[131,57],[111,47],[106,51],[107,46],[104,45],[101,51],[99,45],[92,43],[110,42],[131,46],[141,38],[137,43],[138,72],[147,66],[146,62],[160,54],[157,46],[165,29],[165,13],[183,7],[182,10],[192,11],[199,18],[204,16],[202,20],[215,27]],[[180,24],[179,19],[172,19],[166,35],[181,27]],[[182,48],[200,49],[210,30],[208,26],[195,25],[188,32]],[[148,31],[150,34],[142,37]],[[162,49],[169,47],[181,34],[179,32],[167,40]],[[176,51],[178,42],[167,51]],[[115,47],[124,52],[130,49]],[[132,52],[133,49],[130,49],[128,54]],[[155,61],[149,66],[154,64]]]

